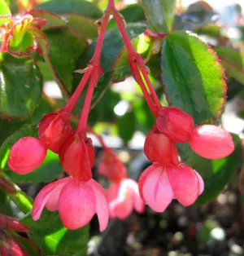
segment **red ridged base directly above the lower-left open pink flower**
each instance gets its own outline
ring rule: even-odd
[[[73,178],[88,181],[92,177],[95,153],[92,140],[78,133],[69,137],[59,151],[63,169]]]

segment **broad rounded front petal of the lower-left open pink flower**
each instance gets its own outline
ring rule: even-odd
[[[93,218],[96,209],[94,190],[88,183],[73,179],[59,196],[59,215],[68,229],[84,227]]]

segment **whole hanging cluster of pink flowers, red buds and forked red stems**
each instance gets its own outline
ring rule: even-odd
[[[103,145],[104,155],[98,172],[111,180],[106,195],[101,185],[92,178],[95,154],[86,130],[94,88],[102,75],[100,55],[110,15],[113,15],[129,53],[131,73],[141,86],[156,123],[147,135],[144,147],[146,157],[153,164],[142,173],[138,184],[127,178],[127,170],[121,161],[111,149]],[[108,1],[105,15],[98,24],[101,27],[98,28],[94,56],[85,68],[75,92],[61,110],[42,117],[38,126],[38,139],[25,137],[13,145],[8,166],[18,174],[28,174],[41,165],[48,149],[59,154],[68,177],[41,189],[34,201],[33,219],[40,218],[44,207],[50,211],[59,210],[63,225],[76,229],[85,226],[94,214],[98,214],[102,232],[107,227],[109,215],[111,218],[123,219],[133,209],[142,213],[145,203],[151,209],[163,212],[172,199],[177,199],[185,206],[196,201],[203,192],[203,179],[190,166],[179,161],[176,143],[189,143],[194,152],[210,159],[228,156],[234,146],[231,135],[219,126],[194,127],[194,119],[181,109],[161,106],[150,83],[144,60],[134,50],[124,20],[115,10],[114,1]],[[72,130],[72,109],[87,83],[81,117],[76,130]]]

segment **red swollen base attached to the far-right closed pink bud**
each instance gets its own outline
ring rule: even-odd
[[[159,109],[157,127],[172,141],[185,143],[194,129],[194,119],[179,108],[162,107]]]

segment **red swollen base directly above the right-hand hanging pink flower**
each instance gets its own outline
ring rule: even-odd
[[[146,136],[144,153],[150,161],[163,165],[168,163],[178,164],[179,162],[176,144],[167,136],[161,134],[156,126]]]

